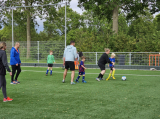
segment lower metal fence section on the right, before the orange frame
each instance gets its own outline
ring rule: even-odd
[[[114,52],[114,53],[116,54],[115,57],[116,65],[160,66],[159,52]],[[86,63],[89,64],[97,64],[98,59],[101,57],[102,54],[103,52],[83,53],[83,55],[86,56]]]

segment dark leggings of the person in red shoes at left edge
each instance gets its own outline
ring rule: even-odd
[[[0,88],[1,87],[2,87],[2,93],[3,93],[4,98],[7,98],[5,75],[0,75]]]

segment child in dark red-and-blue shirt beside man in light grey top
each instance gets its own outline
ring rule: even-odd
[[[82,77],[82,83],[87,83],[84,79],[85,79],[85,69],[87,69],[85,66],[84,66],[84,61],[85,61],[85,57],[82,56],[81,57],[81,63],[79,65],[79,76],[77,77],[77,79],[75,80],[77,83],[79,83],[79,78],[81,77],[81,75],[83,75]]]

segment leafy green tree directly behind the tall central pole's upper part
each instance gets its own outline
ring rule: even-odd
[[[52,11],[56,15],[47,18],[47,21],[44,22],[44,30],[48,33],[50,37],[56,35],[65,34],[65,7],[61,7],[58,11]],[[73,11],[69,6],[67,6],[67,33],[70,30],[74,30],[80,27],[83,27],[83,17],[77,12]]]

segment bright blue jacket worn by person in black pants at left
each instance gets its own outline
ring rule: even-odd
[[[14,47],[12,47],[11,51],[10,51],[10,65],[16,65],[16,64],[20,64],[21,60],[19,57],[19,50],[18,52],[16,51],[16,49]]]

